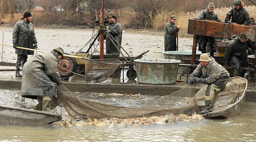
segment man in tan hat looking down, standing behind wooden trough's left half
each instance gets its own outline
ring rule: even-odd
[[[215,6],[212,2],[210,2],[205,10],[203,10],[199,16],[199,20],[214,20],[220,22],[220,18],[218,17],[217,13],[214,12]],[[206,46],[209,42],[210,46],[210,55],[213,57],[214,49],[215,49],[215,38],[210,36],[200,36],[200,43],[201,43],[201,51],[202,53],[206,53]]]

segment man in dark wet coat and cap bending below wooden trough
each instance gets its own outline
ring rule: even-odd
[[[248,48],[255,50],[255,46],[245,33],[235,34],[225,51],[225,66],[234,68],[234,76],[244,77],[246,71],[241,67],[248,67]]]

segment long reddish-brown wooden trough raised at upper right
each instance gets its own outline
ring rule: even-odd
[[[212,20],[188,19],[188,34],[231,39],[234,34],[240,34],[242,32],[249,36],[253,42],[256,42],[256,26],[227,24]]]

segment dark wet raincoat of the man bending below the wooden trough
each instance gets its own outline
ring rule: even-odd
[[[255,46],[250,39],[242,43],[238,38],[239,34],[235,34],[225,51],[225,59],[234,69],[248,66],[249,63],[246,50],[248,50],[249,47],[255,49]]]

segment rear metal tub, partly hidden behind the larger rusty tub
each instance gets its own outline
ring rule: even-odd
[[[181,59],[191,59],[192,51],[165,51],[164,53],[164,59],[175,59],[180,60],[180,64],[190,64],[191,60],[181,60]],[[196,59],[200,58],[200,55],[202,52],[196,52]],[[182,73],[186,67],[180,67],[178,73]]]

